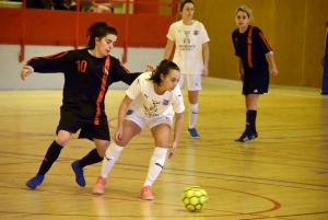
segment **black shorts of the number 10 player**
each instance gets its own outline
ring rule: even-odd
[[[59,130],[66,130],[75,134],[79,129],[81,129],[79,139],[87,138],[89,140],[93,140],[94,138],[96,138],[110,141],[106,116],[101,118],[99,125],[94,125],[92,120],[81,118],[74,112],[63,109],[61,107],[60,120],[56,134],[58,135]]]

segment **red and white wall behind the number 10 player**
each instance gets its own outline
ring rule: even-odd
[[[79,47],[85,46],[86,30],[96,21],[106,21],[118,30],[117,44],[110,55],[124,60],[124,46],[127,44],[125,66],[131,72],[144,71],[147,63],[156,65],[163,59],[165,35],[168,26],[175,21],[174,16],[167,15],[171,11],[167,5],[159,9],[155,4],[140,4],[133,8],[133,13],[130,12],[127,21],[124,13],[80,12],[77,15],[74,11],[0,8],[0,90],[62,89],[61,73],[33,73],[22,81],[20,71],[32,57],[74,49],[77,38]],[[22,32],[26,45],[23,53],[24,60],[20,62]],[[126,88],[127,85],[121,82],[110,86],[110,89]]]

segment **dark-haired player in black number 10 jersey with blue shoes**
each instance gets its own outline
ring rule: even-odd
[[[109,56],[117,39],[116,28],[96,22],[87,30],[87,48],[36,57],[21,71],[22,80],[32,72],[63,72],[63,99],[56,140],[50,144],[36,176],[26,182],[35,189],[57,160],[72,134],[81,129],[79,138],[93,140],[95,149],[72,163],[75,181],[85,186],[83,167],[103,161],[109,146],[109,128],[105,114],[108,86],[118,81],[131,84],[141,73],[130,73],[115,57]]]

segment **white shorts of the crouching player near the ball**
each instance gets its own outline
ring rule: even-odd
[[[150,129],[152,129],[153,127],[160,124],[167,124],[169,125],[171,128],[173,125],[173,114],[163,117],[151,118],[151,117],[142,117],[136,111],[129,109],[126,119],[132,120],[133,123],[139,125],[141,129],[144,127],[144,125],[149,125]]]

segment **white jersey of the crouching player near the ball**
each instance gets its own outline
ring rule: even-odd
[[[129,109],[138,112],[142,117],[159,118],[185,111],[180,88],[157,95],[154,83],[150,81],[151,72],[140,74],[129,86],[126,94],[133,100]]]

